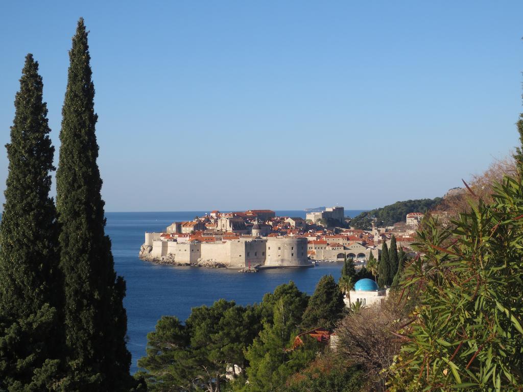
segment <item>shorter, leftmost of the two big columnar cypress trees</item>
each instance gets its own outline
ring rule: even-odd
[[[48,390],[59,370],[58,226],[49,197],[54,147],[38,62],[15,98],[0,224],[0,390]],[[57,287],[58,286],[58,287]]]

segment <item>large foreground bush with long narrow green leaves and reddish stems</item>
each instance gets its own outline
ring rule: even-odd
[[[420,290],[395,390],[521,390],[523,385],[523,166],[471,203],[454,228],[429,218],[405,290]],[[407,293],[408,294],[408,293]],[[407,295],[408,296],[408,295]],[[403,366],[408,364],[407,366]]]

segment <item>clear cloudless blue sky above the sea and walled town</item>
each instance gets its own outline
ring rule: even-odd
[[[58,159],[82,16],[107,211],[433,198],[518,143],[521,15],[521,1],[2,2],[0,144],[31,52]]]

